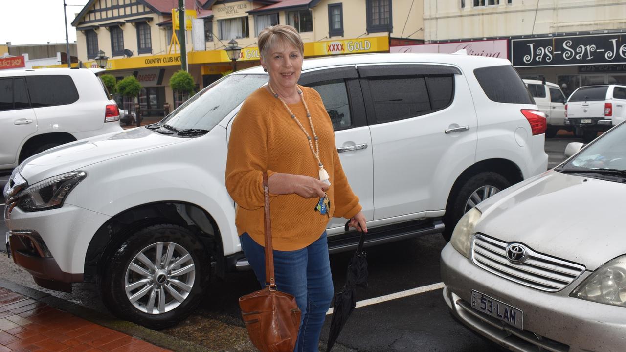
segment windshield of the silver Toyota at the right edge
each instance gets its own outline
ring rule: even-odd
[[[585,173],[602,179],[626,177],[626,125],[606,133],[557,171]]]

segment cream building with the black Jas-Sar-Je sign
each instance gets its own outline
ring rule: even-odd
[[[427,43],[478,48],[501,40],[520,76],[565,85],[566,94],[582,85],[626,83],[626,1],[424,2]]]

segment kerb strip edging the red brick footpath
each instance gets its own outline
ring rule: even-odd
[[[162,348],[172,349],[172,351],[217,352],[213,349],[200,346],[199,344],[178,339],[173,336],[145,328],[138,324],[131,323],[130,321],[115,318],[110,313],[100,313],[93,309],[80,306],[76,303],[64,301],[63,299],[51,296],[48,293],[32,289],[31,287],[26,287],[21,284],[16,284],[15,282],[7,281],[5,279],[0,278],[0,287],[10,289],[11,291],[17,292],[23,296],[48,304],[48,306],[53,308],[74,314],[75,316],[91,321],[92,323],[105,326],[106,328],[119,331],[120,333],[128,334],[134,338],[142,339],[143,341],[155,344],[156,346]]]

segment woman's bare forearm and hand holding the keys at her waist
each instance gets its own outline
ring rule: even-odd
[[[330,187],[325,182],[313,177],[292,173],[274,173],[268,182],[272,194],[295,193],[302,198],[324,197],[326,190]]]

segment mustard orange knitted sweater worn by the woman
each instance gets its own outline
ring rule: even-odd
[[[331,118],[317,91],[304,86],[299,88],[319,137],[319,157],[330,176],[331,187],[326,192],[331,201],[330,215],[350,218],[361,210],[361,205],[341,167]],[[302,102],[290,104],[289,108],[312,137]],[[306,135],[265,86],[254,91],[237,114],[230,132],[226,163],[226,187],[237,203],[237,232],[239,235],[247,232],[262,246],[265,242],[264,170],[268,177],[274,173],[319,177],[317,160]],[[270,194],[274,249],[295,251],[319,238],[329,217],[314,210],[318,201],[319,198],[304,199],[297,194]]]

